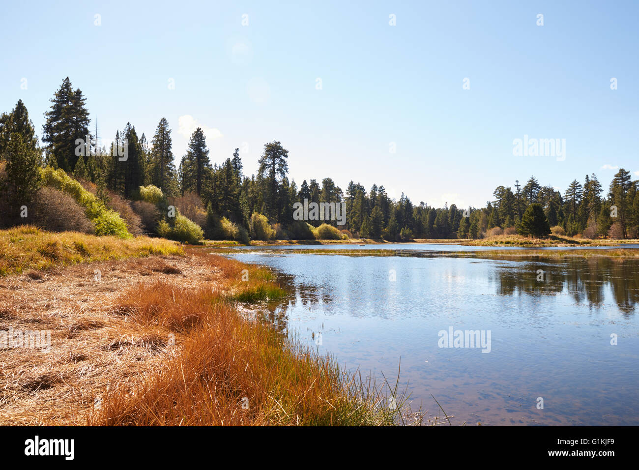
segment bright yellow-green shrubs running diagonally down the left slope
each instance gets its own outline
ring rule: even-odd
[[[95,225],[96,235],[116,235],[121,239],[131,238],[127,224],[114,210],[107,209],[95,194],[87,191],[82,185],[66,175],[63,169],[52,169],[50,166],[42,170],[43,184],[70,194],[75,201],[84,207],[86,216]]]

